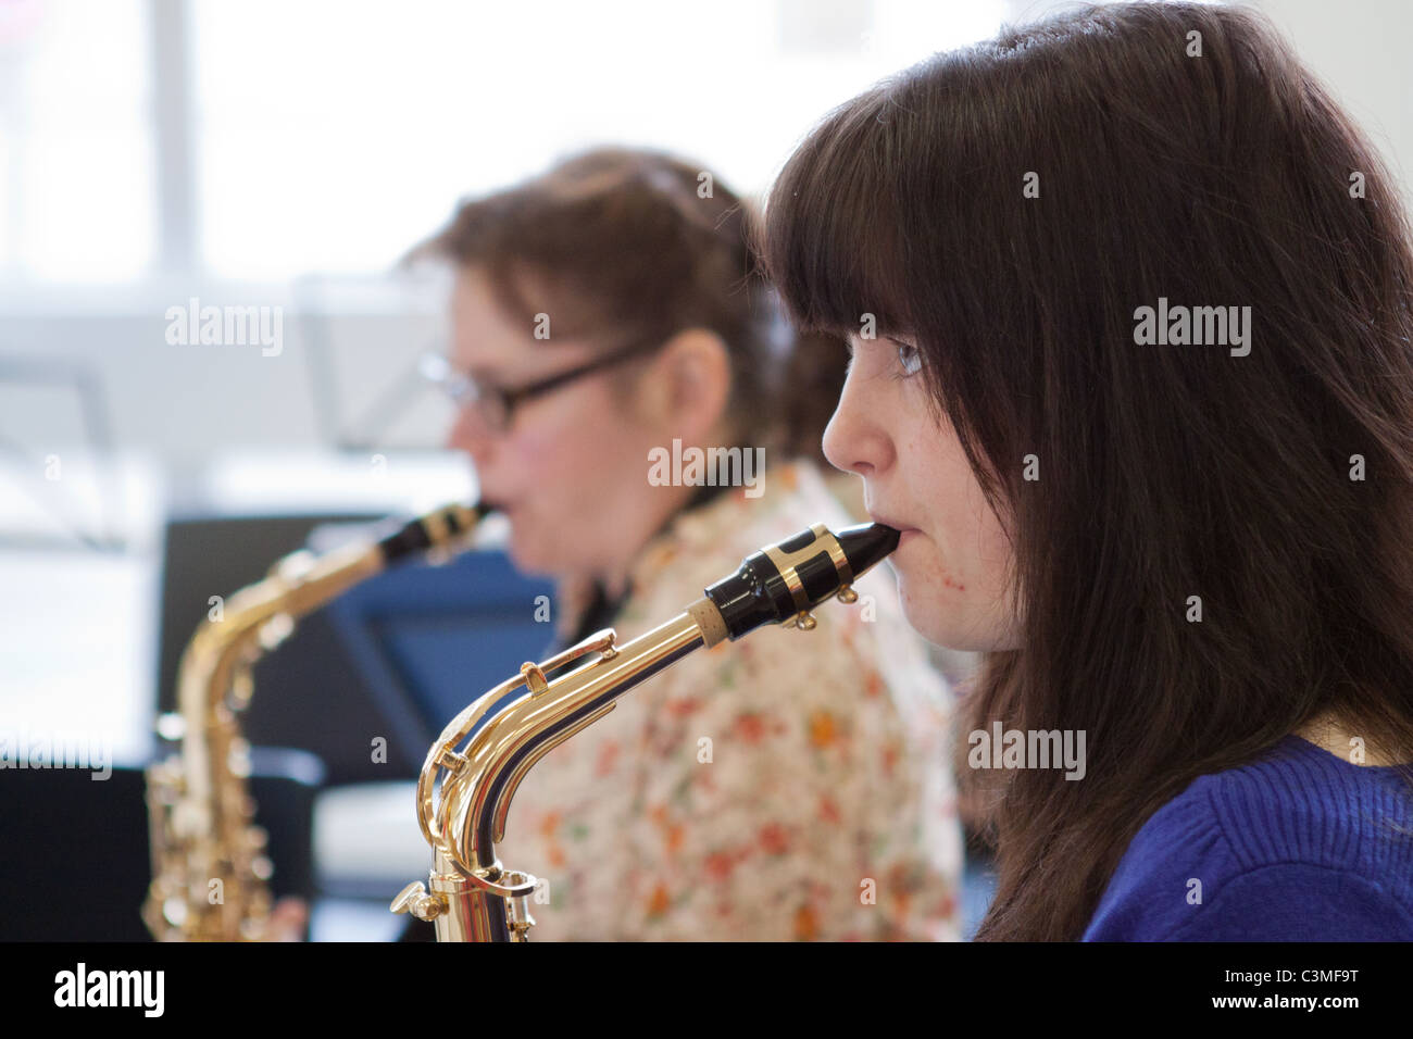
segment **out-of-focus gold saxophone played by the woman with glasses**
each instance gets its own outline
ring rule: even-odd
[[[247,790],[250,748],[240,711],[254,690],[252,667],[294,622],[390,564],[434,550],[445,558],[469,546],[489,509],[451,505],[373,544],[315,557],[285,556],[270,575],[242,588],[219,619],[208,618],[182,653],[179,714],[158,732],[179,755],[147,770],[153,882],[143,922],[157,940],[259,941],[271,937],[266,834],[254,826]]]

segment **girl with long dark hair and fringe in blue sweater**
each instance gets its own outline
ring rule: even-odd
[[[934,55],[771,188],[783,297],[853,348],[825,451],[911,625],[985,654],[979,939],[1413,939],[1402,206],[1265,20],[1177,3]]]

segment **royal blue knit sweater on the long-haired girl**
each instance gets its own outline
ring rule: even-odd
[[[1135,834],[1085,941],[1413,941],[1413,793],[1300,736]]]

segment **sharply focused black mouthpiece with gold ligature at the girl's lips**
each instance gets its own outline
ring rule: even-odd
[[[740,570],[706,588],[732,642],[764,623],[780,623],[820,605],[897,548],[899,532],[882,523],[845,527],[836,536],[801,530],[752,553]],[[836,561],[836,540],[845,561]]]

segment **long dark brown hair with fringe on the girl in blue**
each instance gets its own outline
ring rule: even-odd
[[[1269,23],[1085,7],[934,55],[822,120],[764,233],[801,327],[916,335],[1007,526],[1022,647],[961,731],[1087,732],[1080,782],[988,777],[979,939],[1080,937],[1153,811],[1323,711],[1413,761],[1413,235]],[[1160,298],[1251,307],[1249,353],[1140,344]]]

